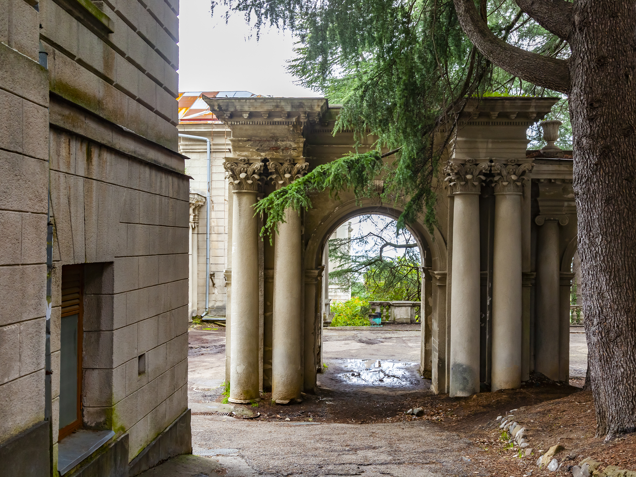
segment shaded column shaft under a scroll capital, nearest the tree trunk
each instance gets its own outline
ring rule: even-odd
[[[546,221],[537,233],[535,365],[539,373],[559,378],[558,222]]]

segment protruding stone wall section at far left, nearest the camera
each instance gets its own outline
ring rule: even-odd
[[[37,475],[50,469],[45,420],[48,75],[38,64],[38,11],[24,0],[2,6],[0,462],[9,474]],[[20,457],[16,466],[12,456]]]

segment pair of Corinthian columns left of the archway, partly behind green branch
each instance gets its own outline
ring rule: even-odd
[[[264,163],[246,158],[238,162],[226,160],[232,186],[232,300],[230,317],[230,397],[231,403],[259,401],[259,270],[258,219],[254,214]],[[276,188],[287,186],[301,177],[308,163],[301,160],[270,160],[269,179]],[[305,310],[302,298],[301,219],[298,211],[287,209],[285,221],[279,224],[274,241],[273,313],[272,313],[272,401],[287,404],[301,400],[303,387],[303,328],[312,335],[310,326],[303,326]],[[238,272],[240,270],[240,272]],[[308,277],[310,284],[312,278]],[[308,287],[310,291],[312,287]],[[315,286],[313,287],[315,294]],[[315,312],[314,312],[315,317]],[[312,365],[315,369],[315,363]],[[310,373],[309,373],[310,374]],[[311,384],[313,387],[314,384]]]

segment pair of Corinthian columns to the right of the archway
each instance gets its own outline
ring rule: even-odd
[[[495,195],[492,279],[491,389],[522,380],[522,195],[529,162],[451,162],[453,195],[451,396],[480,392],[480,193],[487,179]]]

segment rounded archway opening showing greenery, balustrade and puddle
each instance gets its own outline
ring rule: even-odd
[[[405,393],[429,392],[431,383],[420,372],[426,321],[422,240],[410,228],[398,231],[392,214],[341,219],[328,234],[318,387],[344,401],[379,399],[382,407]]]

